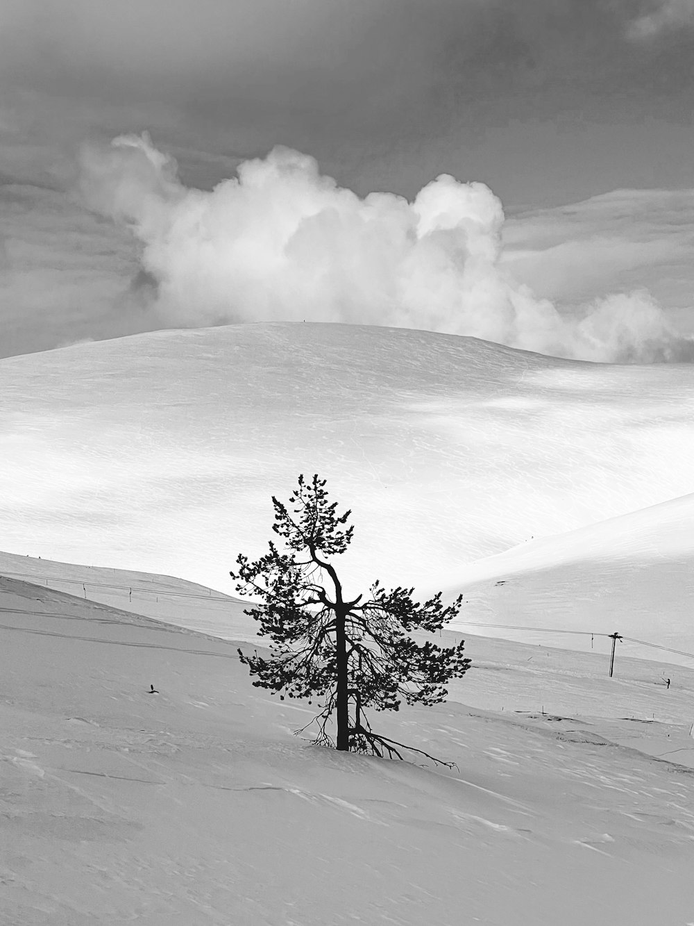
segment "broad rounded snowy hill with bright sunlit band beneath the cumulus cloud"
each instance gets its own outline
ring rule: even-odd
[[[270,494],[320,473],[350,583],[466,563],[688,494],[694,367],[601,366],[329,324],[154,332],[0,361],[0,517],[19,554],[232,591]],[[361,589],[360,589],[361,590]]]

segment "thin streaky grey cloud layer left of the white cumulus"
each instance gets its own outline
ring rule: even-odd
[[[0,357],[151,327],[114,231],[59,191],[0,185]]]

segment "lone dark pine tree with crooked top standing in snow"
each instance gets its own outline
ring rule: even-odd
[[[458,613],[461,597],[444,607],[439,592],[418,604],[414,589],[387,591],[377,581],[366,601],[361,594],[346,598],[331,557],[344,553],[352,542],[353,525],[347,523],[352,512],[338,515],[337,503],[328,502],[326,480],[317,475],[310,482],[299,476],[289,507],[274,495],[272,504],[272,530],[285,552],[270,542],[264,557],[250,562],[241,554],[237,571],[230,572],[238,592],[260,599],[245,613],[273,641],[269,658],[239,650],[242,663],[256,677],[254,685],[282,698],[319,698],[320,709],[307,724],[318,724],[318,744],[403,758],[400,747],[433,759],[374,732],[366,708],[398,710],[403,700],[433,705],[445,699],[444,685],[470,665],[463,655],[464,641],[452,647],[417,644],[410,633],[440,630]],[[326,729],[333,715],[337,742]]]

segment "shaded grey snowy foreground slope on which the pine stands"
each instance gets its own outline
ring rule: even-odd
[[[469,636],[378,718],[447,770],[292,736],[225,641],[12,579],[0,623],[4,923],[694,922],[691,669]]]

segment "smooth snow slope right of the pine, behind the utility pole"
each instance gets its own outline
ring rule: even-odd
[[[455,626],[504,624],[500,633],[562,644],[556,633],[513,632],[528,626],[621,632],[694,654],[694,494],[576,531],[520,544],[466,567],[450,594],[464,594]],[[589,637],[571,637],[570,645]],[[620,653],[678,656],[626,641]]]

